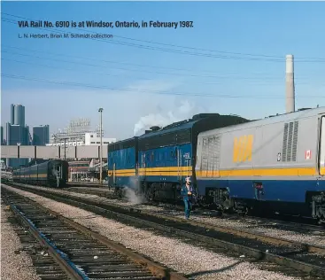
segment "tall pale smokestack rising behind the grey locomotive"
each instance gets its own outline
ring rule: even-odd
[[[285,57],[286,113],[295,112],[295,81],[293,73],[293,55],[288,54]]]

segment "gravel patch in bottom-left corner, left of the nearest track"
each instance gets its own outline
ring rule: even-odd
[[[7,220],[10,212],[6,207],[1,201],[1,279],[39,280],[31,258],[26,252],[19,251],[21,243]]]

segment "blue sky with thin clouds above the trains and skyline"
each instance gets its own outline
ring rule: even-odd
[[[89,118],[124,139],[196,113],[285,113],[285,56],[296,108],[325,105],[324,2],[1,2],[1,124],[25,105],[50,133]],[[189,20],[193,27],[19,27],[19,20]],[[24,34],[107,39],[19,38]]]

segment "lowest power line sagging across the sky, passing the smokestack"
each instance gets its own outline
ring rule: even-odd
[[[110,90],[116,90],[116,91],[133,91],[133,92],[146,92],[151,94],[160,94],[160,95],[174,95],[174,96],[198,96],[198,97],[221,97],[221,98],[283,98],[283,97],[262,97],[262,96],[233,96],[233,95],[213,95],[213,94],[204,94],[204,93],[191,93],[191,92],[170,92],[170,91],[159,91],[159,90],[143,90],[143,89],[132,89],[132,88],[112,88],[107,86],[100,86],[100,85],[91,85],[91,84],[85,84],[80,82],[60,82],[60,81],[53,81],[53,80],[47,80],[47,79],[39,79],[39,78],[33,78],[33,77],[26,77],[26,76],[19,76],[15,74],[1,74],[5,78],[10,79],[18,79],[18,80],[25,80],[25,81],[33,81],[33,82],[49,82],[59,85],[71,85],[71,86],[77,86],[77,87],[84,87],[84,88],[92,88],[92,89],[110,89]],[[309,97],[299,97],[299,98],[325,98],[325,96],[309,96]]]

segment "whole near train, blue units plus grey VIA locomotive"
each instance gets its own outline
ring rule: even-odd
[[[198,114],[109,144],[107,159],[110,186],[150,200],[180,201],[190,176],[200,206],[325,222],[325,107],[253,121]]]

